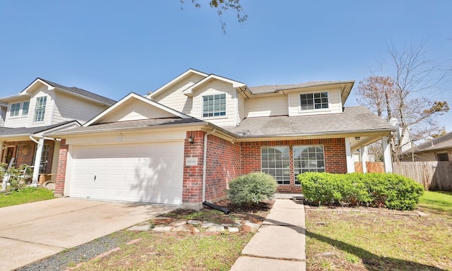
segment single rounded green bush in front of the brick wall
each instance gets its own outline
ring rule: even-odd
[[[239,205],[253,205],[261,200],[273,198],[278,183],[273,176],[254,172],[233,179],[229,183],[227,194],[232,203]]]

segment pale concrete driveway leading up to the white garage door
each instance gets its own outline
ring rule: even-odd
[[[178,207],[74,198],[1,207],[0,270],[16,269]]]

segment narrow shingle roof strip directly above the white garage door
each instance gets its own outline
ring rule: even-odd
[[[143,119],[139,121],[119,121],[111,122],[108,124],[93,124],[86,127],[77,127],[70,130],[65,130],[61,133],[54,133],[55,135],[63,134],[76,134],[76,133],[88,133],[99,131],[117,131],[122,129],[134,129],[134,128],[149,128],[155,126],[169,126],[175,124],[202,124],[205,123],[199,119],[189,118],[165,118],[165,119]],[[53,134],[53,133],[52,133]]]

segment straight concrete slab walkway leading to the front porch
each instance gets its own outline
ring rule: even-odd
[[[277,197],[270,214],[245,246],[231,271],[304,271],[305,246],[303,201]]]

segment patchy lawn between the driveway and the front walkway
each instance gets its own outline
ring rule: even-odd
[[[141,239],[76,270],[230,270],[252,234],[130,233]]]

